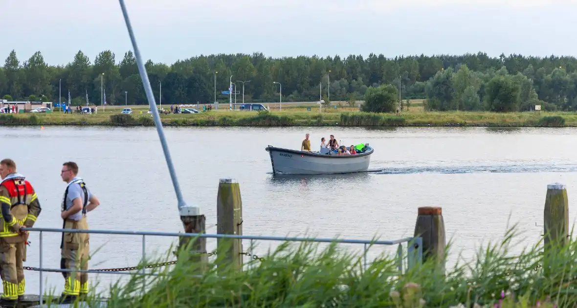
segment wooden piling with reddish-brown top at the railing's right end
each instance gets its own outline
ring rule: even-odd
[[[423,262],[434,260],[444,271],[447,244],[441,208],[426,206],[418,209],[414,236],[423,239]]]

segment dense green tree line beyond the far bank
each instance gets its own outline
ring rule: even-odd
[[[400,89],[404,99],[426,99],[428,110],[546,110],[577,107],[575,57],[526,57],[512,54],[488,57],[483,52],[464,55],[419,55],[387,58],[349,55],[335,57],[265,57],[261,53],[200,55],[171,65],[145,63],[156,102],[163,104],[228,102],[230,76],[245,102],[283,102],[364,99],[369,88]],[[239,82],[245,81],[245,82]],[[274,82],[278,82],[276,84]],[[65,66],[48,65],[40,51],[21,62],[10,52],[0,68],[0,95],[8,100],[42,98],[73,105],[101,102],[101,83],[108,104],[147,104],[132,51],[117,61],[102,51],[91,61],[78,51]],[[330,87],[328,85],[330,84]],[[391,87],[381,87],[391,85]],[[162,88],[162,89],[161,89]],[[330,91],[330,92],[329,92]],[[328,97],[329,96],[329,97]],[[389,95],[393,98],[392,93]],[[398,97],[398,93],[395,97]]]

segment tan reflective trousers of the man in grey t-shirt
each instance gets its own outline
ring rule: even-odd
[[[65,229],[88,230],[86,217],[76,221],[66,219]],[[89,235],[87,233],[64,233],[62,235],[60,267],[72,271],[88,270]],[[88,273],[63,272],[65,283],[63,295],[79,295],[88,293]]]

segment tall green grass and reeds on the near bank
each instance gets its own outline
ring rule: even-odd
[[[133,275],[128,283],[111,288],[109,307],[493,307],[511,295],[530,303],[516,307],[537,302],[553,307],[544,305],[548,298],[557,307],[574,306],[577,243],[571,241],[554,256],[545,255],[541,243],[512,254],[513,238],[509,232],[502,243],[482,247],[474,260],[446,272],[427,262],[403,275],[395,257],[369,260],[364,269],[361,255],[338,246],[316,251],[310,243],[283,244],[263,261],[252,260],[252,269],[220,277],[214,262],[197,279],[194,264],[179,262],[170,275],[149,277],[144,295],[143,277]],[[544,271],[544,261],[550,271]]]

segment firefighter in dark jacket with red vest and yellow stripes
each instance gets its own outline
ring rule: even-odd
[[[24,299],[25,242],[28,232],[20,227],[32,227],[40,215],[40,203],[32,185],[24,175],[16,173],[12,159],[0,161],[0,206],[2,228],[0,232],[0,274],[3,294],[1,306],[16,305]]]

